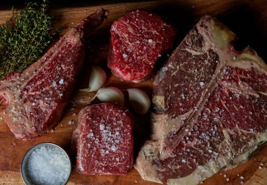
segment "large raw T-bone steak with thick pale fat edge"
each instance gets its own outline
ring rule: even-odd
[[[143,179],[195,185],[266,144],[267,67],[235,37],[204,16],[158,73],[153,134],[134,165]]]

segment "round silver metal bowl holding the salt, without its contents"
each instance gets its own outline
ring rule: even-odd
[[[24,183],[26,185],[35,185],[34,183],[31,182],[29,176],[28,176],[28,170],[27,170],[27,166],[28,166],[28,161],[29,161],[29,158],[30,156],[32,155],[32,152],[35,151],[36,149],[38,148],[41,148],[41,147],[54,147],[54,148],[58,148],[59,150],[62,150],[66,156],[68,157],[69,159],[69,176],[68,178],[65,180],[65,182],[61,183],[60,185],[66,185],[67,182],[69,181],[69,178],[70,178],[70,174],[71,174],[71,160],[70,160],[70,157],[68,155],[68,153],[63,149],[61,148],[60,146],[54,144],[54,143],[39,143],[37,145],[34,145],[32,148],[30,148],[26,154],[24,155],[22,161],[21,161],[21,166],[20,166],[20,174],[21,174],[21,177],[24,181]]]

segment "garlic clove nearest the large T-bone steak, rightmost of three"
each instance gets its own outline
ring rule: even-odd
[[[150,99],[146,92],[138,88],[126,89],[130,104],[137,114],[146,114],[150,108]]]

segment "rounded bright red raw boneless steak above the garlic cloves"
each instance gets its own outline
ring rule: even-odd
[[[114,21],[110,33],[108,67],[138,83],[150,77],[160,54],[173,45],[176,29],[155,13],[136,10]]]

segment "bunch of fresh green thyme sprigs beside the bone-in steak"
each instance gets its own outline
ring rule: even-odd
[[[51,32],[52,18],[46,11],[47,1],[39,7],[27,3],[24,10],[16,12],[11,8],[12,17],[0,25],[0,79],[13,71],[22,71],[38,60],[45,47],[61,29]],[[15,26],[8,25],[16,17]]]

